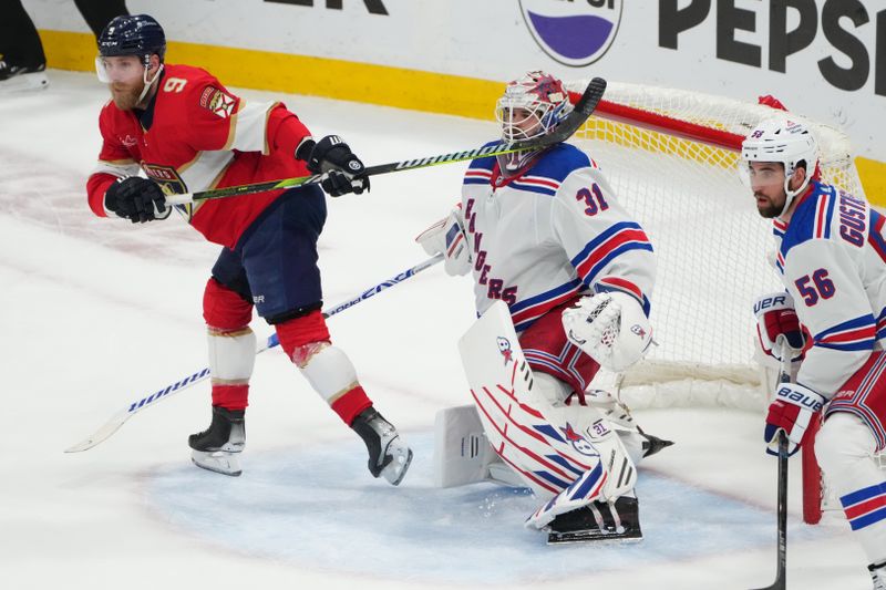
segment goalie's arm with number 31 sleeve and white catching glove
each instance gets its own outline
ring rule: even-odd
[[[569,175],[553,203],[552,229],[594,291],[563,313],[569,340],[605,369],[624,371],[652,342],[652,246],[596,167]]]

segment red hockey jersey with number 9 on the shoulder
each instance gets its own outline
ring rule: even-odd
[[[281,103],[247,102],[208,72],[166,65],[147,110],[121,111],[113,101],[99,117],[102,149],[86,184],[89,203],[107,216],[104,193],[141,168],[166,194],[308,176],[296,147],[309,135]],[[206,239],[233,248],[282,192],[177,206]]]

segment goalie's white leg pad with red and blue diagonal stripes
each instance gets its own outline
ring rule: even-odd
[[[633,463],[599,412],[552,403],[560,397],[553,377],[533,374],[504,303],[493,304],[459,348],[490,443],[537,495],[554,496],[529,526],[633,488]]]

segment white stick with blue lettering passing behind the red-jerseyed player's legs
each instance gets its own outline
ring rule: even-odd
[[[415,265],[414,267],[404,270],[400,275],[391,277],[387,281],[382,281],[382,282],[375,284],[374,287],[370,287],[369,289],[367,289],[365,291],[363,291],[359,296],[356,296],[352,299],[349,299],[348,301],[343,301],[343,302],[339,303],[338,306],[336,306],[334,308],[324,311],[323,312],[323,317],[324,318],[329,318],[329,317],[334,315],[337,313],[341,313],[346,309],[351,308],[351,307],[360,303],[361,301],[365,301],[370,297],[372,297],[372,296],[374,296],[377,293],[380,293],[381,291],[384,291],[385,289],[390,289],[391,287],[394,287],[395,284],[399,284],[399,283],[403,282],[404,280],[409,279],[410,277],[421,272],[422,270],[424,270],[426,268],[430,268],[430,267],[436,265],[437,262],[440,262],[442,260],[443,260],[443,255],[442,253],[439,253],[439,255],[436,255],[434,257],[431,257],[427,260],[424,260],[423,262],[420,262],[420,263]],[[274,334],[269,335],[267,341],[264,342],[256,350],[256,354],[260,354],[260,353],[265,352],[266,350],[272,349],[274,346],[277,346],[279,344],[280,344],[280,341],[277,339],[277,333],[275,332]],[[158,390],[158,391],[156,391],[156,392],[154,392],[154,393],[152,393],[150,395],[146,395],[144,397],[140,397],[138,400],[133,401],[126,407],[122,408],[120,412],[117,412],[116,414],[111,416],[111,420],[109,420],[101,428],[95,431],[93,434],[91,434],[90,436],[87,436],[86,438],[81,441],[80,443],[73,445],[72,447],[65,448],[64,452],[65,453],[80,453],[81,451],[87,451],[87,449],[94,447],[95,445],[97,445],[102,441],[105,441],[112,434],[117,432],[117,429],[121,426],[123,426],[123,423],[125,423],[127,420],[130,420],[135,413],[141,412],[142,410],[144,410],[147,406],[156,404],[161,400],[165,400],[167,397],[171,397],[173,394],[178,393],[181,391],[184,391],[184,390],[188,389],[189,386],[194,385],[195,383],[199,383],[200,381],[205,381],[208,376],[209,376],[209,368],[205,368],[205,369],[202,369],[202,370],[195,372],[194,374],[186,375],[183,379],[176,381],[175,383],[172,383],[172,384],[167,385],[166,387],[163,387],[163,389],[161,389],[161,390]]]

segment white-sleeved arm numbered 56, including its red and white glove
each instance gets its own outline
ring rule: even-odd
[[[810,240],[795,246],[787,252],[784,278],[812,348],[796,382],[775,387],[763,435],[772,455],[777,454],[780,431],[787,435],[789,454],[796,452],[813,414],[864,364],[876,341],[870,303],[843,245]]]

